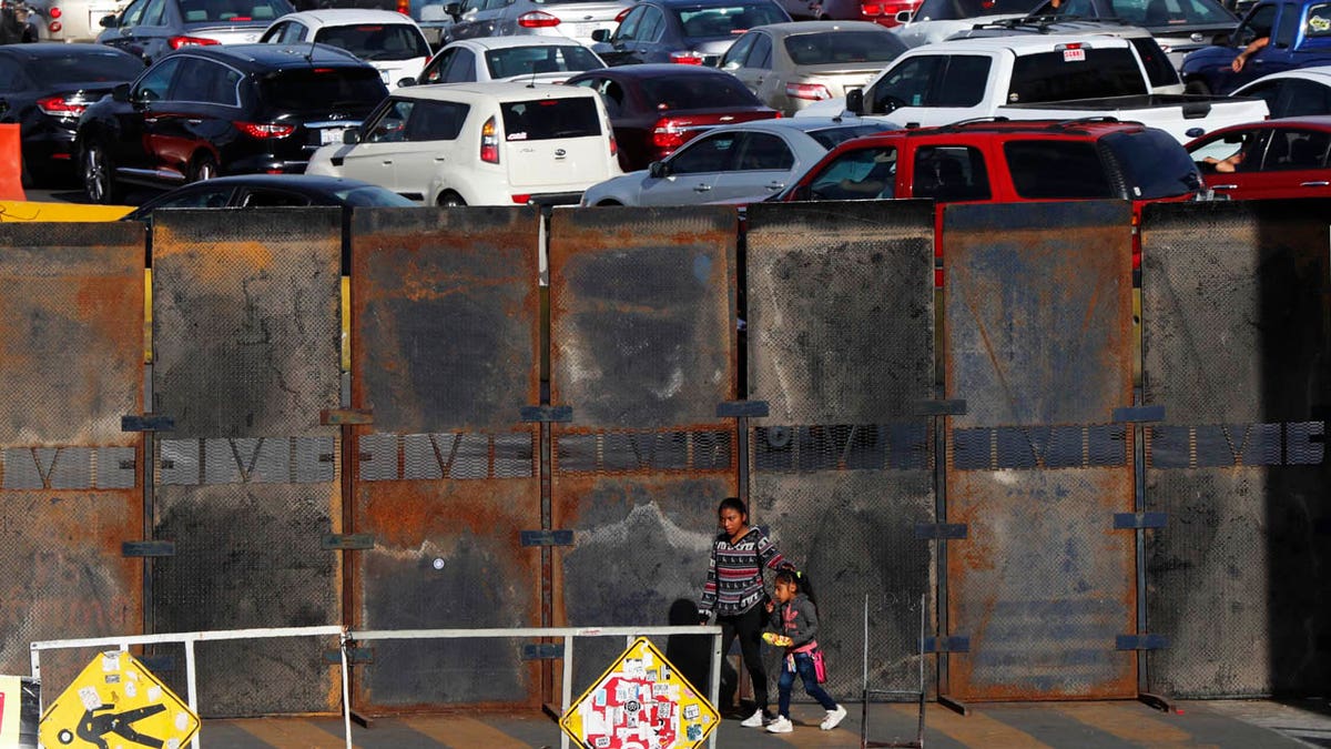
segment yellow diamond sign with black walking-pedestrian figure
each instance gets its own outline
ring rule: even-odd
[[[198,716],[120,650],[98,653],[47,708],[37,730],[47,749],[180,749],[198,730]]]

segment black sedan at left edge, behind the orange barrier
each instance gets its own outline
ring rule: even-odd
[[[17,123],[27,181],[72,179],[84,109],[144,72],[144,61],[101,44],[0,47],[0,123]]]

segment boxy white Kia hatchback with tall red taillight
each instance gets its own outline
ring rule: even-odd
[[[620,175],[595,91],[523,83],[401,88],[310,175],[383,185],[426,205],[576,204]]]

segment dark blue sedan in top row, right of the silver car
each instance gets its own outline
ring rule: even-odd
[[[772,0],[639,0],[614,32],[592,35],[592,49],[611,65],[716,65],[737,35],[789,20]]]

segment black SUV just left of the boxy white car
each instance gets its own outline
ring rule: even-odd
[[[387,95],[379,73],[322,44],[192,47],[162,57],[79,121],[84,189],[174,187],[218,175],[301,173]]]

